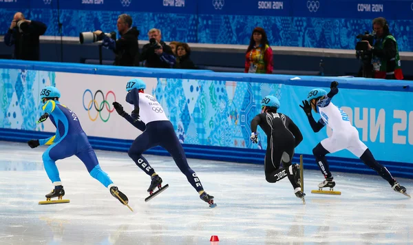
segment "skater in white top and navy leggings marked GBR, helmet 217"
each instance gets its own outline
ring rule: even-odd
[[[155,187],[161,187],[162,178],[142,156],[142,153],[152,147],[161,146],[171,154],[180,171],[187,176],[189,183],[200,194],[201,200],[208,202],[211,207],[215,206],[213,196],[204,191],[200,179],[189,167],[184,149],[164,109],[156,98],[153,98],[150,94],[145,94],[144,89],[146,89],[146,84],[142,79],[134,78],[127,83],[126,102],[133,109],[131,115],[127,114],[119,103],[114,102],[113,105],[120,116],[123,116],[134,127],[143,131],[132,143],[128,155],[142,171],[151,177],[151,184],[147,191],[152,194]]]

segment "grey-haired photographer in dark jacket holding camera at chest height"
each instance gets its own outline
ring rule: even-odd
[[[175,65],[175,56],[171,47],[161,41],[161,33],[158,29],[151,29],[148,32],[149,43],[142,47],[140,61],[146,61],[146,67],[172,68]]]

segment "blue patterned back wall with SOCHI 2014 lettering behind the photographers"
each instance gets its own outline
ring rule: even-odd
[[[59,11],[58,11],[59,3]],[[151,28],[165,41],[248,44],[251,31],[263,27],[272,46],[354,49],[355,36],[372,30],[372,19],[385,17],[400,51],[413,51],[413,1],[407,0],[14,0],[0,3],[0,34],[14,12],[47,24],[46,35],[116,30],[126,12],[147,39]]]

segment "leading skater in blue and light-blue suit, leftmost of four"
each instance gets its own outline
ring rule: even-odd
[[[59,170],[56,167],[56,160],[75,155],[85,164],[87,171],[89,171],[93,178],[107,187],[116,199],[119,200],[113,192],[117,192],[120,198],[127,203],[126,195],[120,192],[118,187],[109,178],[109,175],[100,169],[98,158],[89,144],[78,116],[59,102],[60,97],[61,93],[56,87],[48,86],[41,91],[40,98],[44,104],[42,107],[44,114],[38,122],[44,122],[47,118],[50,118],[56,127],[56,135],[28,142],[31,148],[38,147],[39,145],[50,145],[43,153],[43,163],[47,176],[54,184],[54,190],[47,194],[46,198],[56,198],[65,195]],[[119,201],[123,203],[121,200]]]

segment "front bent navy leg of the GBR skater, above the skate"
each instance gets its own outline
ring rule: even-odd
[[[156,143],[151,142],[149,138],[149,133],[147,131],[143,132],[138,138],[132,142],[129,151],[127,151],[128,156],[134,160],[136,166],[138,166],[142,171],[147,173],[147,175],[152,176],[155,170],[149,165],[149,162],[142,156],[142,153],[147,149],[156,146]]]

